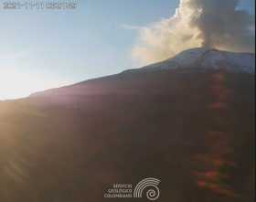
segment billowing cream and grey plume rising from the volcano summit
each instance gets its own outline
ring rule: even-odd
[[[255,27],[239,0],[180,0],[174,16],[139,28],[133,58],[147,64],[187,48],[254,52]]]

